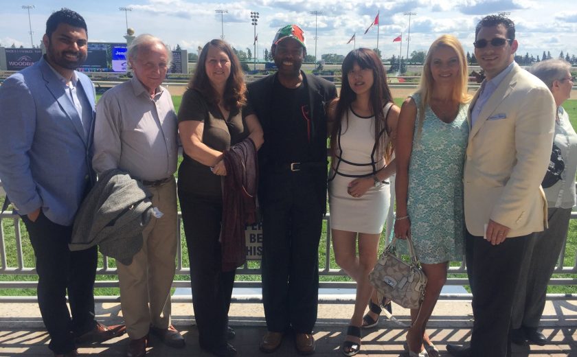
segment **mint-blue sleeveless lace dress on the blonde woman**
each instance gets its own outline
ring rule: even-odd
[[[420,95],[411,95],[420,103]],[[407,211],[420,262],[462,260],[464,253],[463,165],[468,141],[468,104],[445,123],[425,107],[422,130],[415,121],[409,163]],[[419,113],[417,113],[418,118]],[[406,246],[403,244],[403,251]]]

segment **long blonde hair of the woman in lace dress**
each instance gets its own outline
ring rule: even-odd
[[[422,131],[422,122],[425,120],[425,106],[431,103],[431,98],[433,97],[433,87],[435,80],[433,80],[433,74],[431,73],[431,62],[433,60],[433,54],[439,47],[449,47],[452,48],[457,54],[457,59],[459,60],[459,78],[453,87],[453,94],[451,99],[459,103],[468,103],[471,101],[472,95],[467,93],[468,90],[468,68],[467,60],[465,57],[465,52],[463,46],[453,35],[442,35],[437,38],[429,47],[427,52],[427,58],[425,58],[425,65],[422,68],[422,74],[420,77],[419,88],[416,93],[420,94],[421,100],[418,104],[418,115],[417,115],[417,127],[418,127],[418,137]]]

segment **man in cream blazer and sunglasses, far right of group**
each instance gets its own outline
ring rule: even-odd
[[[468,113],[464,169],[467,273],[475,323],[471,347],[453,356],[505,357],[512,302],[525,241],[543,231],[541,181],[554,133],[554,99],[545,84],[514,62],[514,23],[486,16],[475,30],[475,56],[486,79]]]

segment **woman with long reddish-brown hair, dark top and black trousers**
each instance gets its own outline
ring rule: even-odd
[[[260,148],[262,128],[243,113],[246,87],[240,62],[221,40],[205,45],[179,110],[184,160],[178,193],[190,258],[190,281],[199,344],[216,356],[234,356],[228,311],[235,271],[222,271],[220,176],[227,174],[223,152],[250,137]]]

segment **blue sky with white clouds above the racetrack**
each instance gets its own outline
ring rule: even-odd
[[[0,45],[30,47],[27,10],[30,10],[32,39],[41,41],[48,16],[66,7],[80,13],[87,22],[89,41],[123,42],[128,27],[135,34],[149,33],[161,38],[171,47],[180,45],[196,51],[212,38],[220,38],[223,14],[225,41],[246,51],[253,51],[251,12],[259,12],[258,57],[270,49],[275,32],[288,23],[300,25],[306,36],[308,54],[315,55],[315,25],[317,58],[321,54],[347,54],[353,43],[347,41],[356,34],[357,47],[377,45],[377,27],[363,34],[379,14],[378,48],[384,58],[393,54],[407,55],[407,32],[410,16],[409,54],[427,51],[429,45],[442,34],[453,34],[462,42],[465,51],[473,53],[475,25],[482,16],[510,12],[515,22],[519,49],[541,56],[550,51],[556,57],[561,51],[577,56],[577,1],[575,0],[253,0],[253,1],[196,1],[196,0],[98,0],[43,1],[0,0]],[[131,8],[129,12],[119,7]],[[320,11],[315,16],[310,12]],[[392,40],[403,34],[403,43]],[[400,47],[402,45],[402,47]]]

